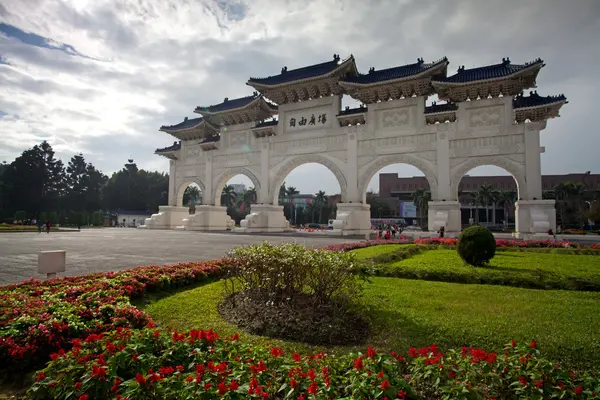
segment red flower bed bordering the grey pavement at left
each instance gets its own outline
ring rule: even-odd
[[[75,338],[145,326],[150,316],[132,306],[131,297],[221,277],[220,264],[137,267],[0,287],[0,376],[41,367],[50,353],[68,349]]]

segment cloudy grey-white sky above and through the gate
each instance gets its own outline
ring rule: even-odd
[[[173,142],[161,125],[250,94],[250,76],[334,53],[354,54],[363,72],[417,57],[447,56],[449,72],[541,57],[538,92],[569,100],[543,132],[543,173],[600,173],[598,0],[3,0],[0,162],[48,140],[61,158],[82,152],[105,173],[128,158],[166,171],[153,155]],[[323,169],[299,167],[287,181],[339,190]]]

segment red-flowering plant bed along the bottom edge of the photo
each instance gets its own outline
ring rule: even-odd
[[[52,356],[30,399],[593,399],[600,379],[540,357],[536,343],[499,354],[435,345],[407,354],[288,354],[212,330],[118,328]]]

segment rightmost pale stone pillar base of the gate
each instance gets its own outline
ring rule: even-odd
[[[515,236],[532,238],[556,233],[554,200],[519,200],[515,203]]]

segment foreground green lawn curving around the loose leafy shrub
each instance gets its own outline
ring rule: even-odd
[[[238,332],[254,343],[321,350],[240,332],[217,312],[221,290],[221,282],[199,286],[154,301],[145,310],[159,324],[176,329],[212,327],[227,336]],[[365,286],[364,303],[373,321],[368,343],[377,349],[405,351],[436,343],[500,351],[511,339],[535,338],[551,359],[580,367],[600,363],[600,293],[374,278]]]

